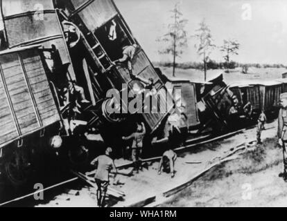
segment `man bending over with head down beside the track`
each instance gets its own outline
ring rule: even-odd
[[[162,167],[164,172],[171,173],[171,177],[175,176],[175,160],[177,159],[176,153],[170,148],[164,152],[162,159],[159,162],[159,175],[162,173]]]

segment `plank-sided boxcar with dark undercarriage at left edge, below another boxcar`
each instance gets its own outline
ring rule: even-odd
[[[0,52],[0,167],[16,185],[26,182],[31,159],[44,153],[60,130],[42,62],[37,46]]]

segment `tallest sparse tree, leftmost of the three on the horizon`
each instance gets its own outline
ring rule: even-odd
[[[173,23],[168,24],[168,32],[164,36],[159,37],[157,41],[168,44],[166,48],[159,50],[159,53],[173,56],[173,77],[175,77],[176,58],[180,57],[183,49],[187,47],[187,32],[184,28],[188,20],[182,18],[183,15],[180,12],[179,3],[176,3],[170,12]]]

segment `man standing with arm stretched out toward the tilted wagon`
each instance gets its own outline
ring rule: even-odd
[[[136,173],[139,173],[139,168],[141,167],[140,155],[143,148],[143,137],[146,135],[146,128],[141,122],[141,124],[137,124],[137,131],[132,133],[128,137],[122,137],[123,140],[132,140],[132,162],[134,163],[134,170]]]

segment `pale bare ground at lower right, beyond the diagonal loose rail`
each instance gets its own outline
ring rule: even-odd
[[[277,139],[266,138],[259,148],[211,169],[159,206],[287,206],[287,183],[278,176],[281,171]]]

